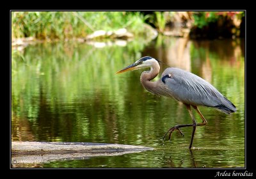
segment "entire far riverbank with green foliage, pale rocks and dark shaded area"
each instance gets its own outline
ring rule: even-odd
[[[75,41],[125,46],[158,34],[184,38],[244,37],[244,12],[12,12],[12,47]]]

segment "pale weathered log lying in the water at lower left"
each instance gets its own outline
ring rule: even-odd
[[[144,146],[106,143],[12,142],[12,164],[48,163],[54,160],[83,160],[154,150]]]

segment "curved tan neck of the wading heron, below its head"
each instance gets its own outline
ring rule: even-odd
[[[155,82],[152,82],[151,80],[158,75],[159,70],[160,70],[160,66],[156,61],[155,63],[153,63],[152,66],[150,66],[150,71],[145,71],[140,76],[140,81],[142,86],[150,92],[153,92],[150,89],[155,87]]]

